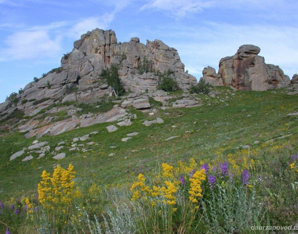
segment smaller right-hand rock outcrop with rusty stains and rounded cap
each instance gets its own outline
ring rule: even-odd
[[[223,84],[237,90],[268,90],[290,84],[280,67],[266,64],[258,53],[259,47],[242,45],[234,56],[221,59],[218,74]]]

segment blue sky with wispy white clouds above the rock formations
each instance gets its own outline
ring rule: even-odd
[[[189,73],[201,77],[242,44],[261,48],[266,63],[298,73],[298,1],[0,0],[0,102],[33,77],[60,66],[73,41],[96,27],[118,41],[137,36],[175,47]]]

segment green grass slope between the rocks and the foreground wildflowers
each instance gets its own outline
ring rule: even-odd
[[[295,144],[298,132],[297,116],[286,115],[297,111],[298,96],[288,96],[283,90],[277,90],[277,93],[238,91],[235,96],[228,94],[229,99],[223,103],[218,100],[226,96],[227,88],[220,87],[216,90],[222,92],[220,98],[198,95],[204,101],[201,107],[159,110],[154,118],[156,116],[163,118],[164,124],[146,127],[142,122],[153,117],[149,117],[148,113],[134,110],[137,119],[133,120],[133,124],[119,127],[119,130],[113,133],[108,133],[105,129],[111,123],[103,123],[58,136],[43,136],[39,141],[49,141],[52,151],[60,141],[65,141],[66,146],[70,146],[74,137],[92,131],[99,132],[97,135],[91,135],[90,141],[98,145],[86,145],[86,148],[92,149],[88,153],[61,150],[66,153],[66,158],[58,163],[62,166],[74,164],[79,184],[86,180],[99,181],[101,184],[131,183],[138,173],[156,170],[160,162],[185,160],[191,156],[213,159],[217,157],[218,151],[223,155],[229,152],[236,153],[240,150],[235,150],[235,147],[240,145],[253,144],[256,140],[264,142],[289,133],[294,134],[290,139],[293,142],[291,151],[297,152]],[[112,104],[112,102],[103,103],[100,110],[106,111]],[[92,112],[94,108],[91,105],[82,113]],[[177,128],[172,128],[172,125],[176,125]],[[134,131],[140,134],[134,136],[133,140],[121,141],[127,133]],[[163,141],[170,136],[179,138]],[[52,159],[53,155],[28,162],[21,162],[23,156],[9,161],[12,153],[28,147],[33,140],[25,139],[21,133],[0,138],[1,197],[24,195],[36,190],[42,170],[52,171],[53,165],[57,163]],[[110,146],[117,148],[111,149]],[[252,146],[251,149],[256,147]],[[131,152],[132,150],[138,151]],[[109,153],[116,155],[108,157]]]

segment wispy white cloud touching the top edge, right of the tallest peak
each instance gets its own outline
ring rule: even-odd
[[[198,0],[153,0],[141,7],[141,10],[154,9],[170,13],[176,18],[182,18],[188,14],[202,11],[211,7],[215,1]]]

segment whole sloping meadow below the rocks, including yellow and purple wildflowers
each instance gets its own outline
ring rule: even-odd
[[[52,150],[9,161],[35,139],[0,137],[0,233],[263,233],[251,227],[297,226],[298,116],[288,114],[298,112],[298,96],[285,89],[212,91],[217,97],[196,95],[200,107],[157,108],[154,116],[129,107],[137,118],[112,133],[103,123],[39,139],[54,149],[99,132],[89,151],[64,148],[59,161]],[[142,124],[156,117],[164,123]],[[121,141],[132,132],[139,134]],[[178,137],[164,141],[171,136]]]

